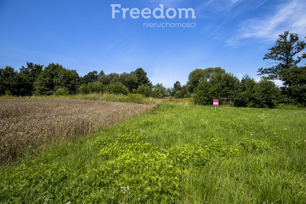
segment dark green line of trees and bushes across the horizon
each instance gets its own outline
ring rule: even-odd
[[[46,67],[27,62],[18,71],[6,66],[0,69],[0,95],[69,95],[89,93],[128,93],[146,97],[193,98],[196,104],[211,105],[213,98],[221,104],[230,103],[238,107],[269,107],[277,104],[304,106],[306,102],[306,64],[297,64],[304,58],[300,53],[306,47],[297,34],[284,32],[279,35],[274,46],[263,59],[273,60],[269,68],[260,68],[259,82],[244,75],[239,80],[232,73],[221,67],[195,69],[188,75],[188,81],[181,85],[179,81],[173,88],[166,88],[162,83],[153,85],[147,72],[137,68],[132,72],[105,74],[92,71],[79,76],[76,70],[66,69],[58,63]],[[297,56],[297,57],[295,57]],[[264,75],[264,76],[263,76]],[[272,80],[282,80],[283,87],[277,87]]]

